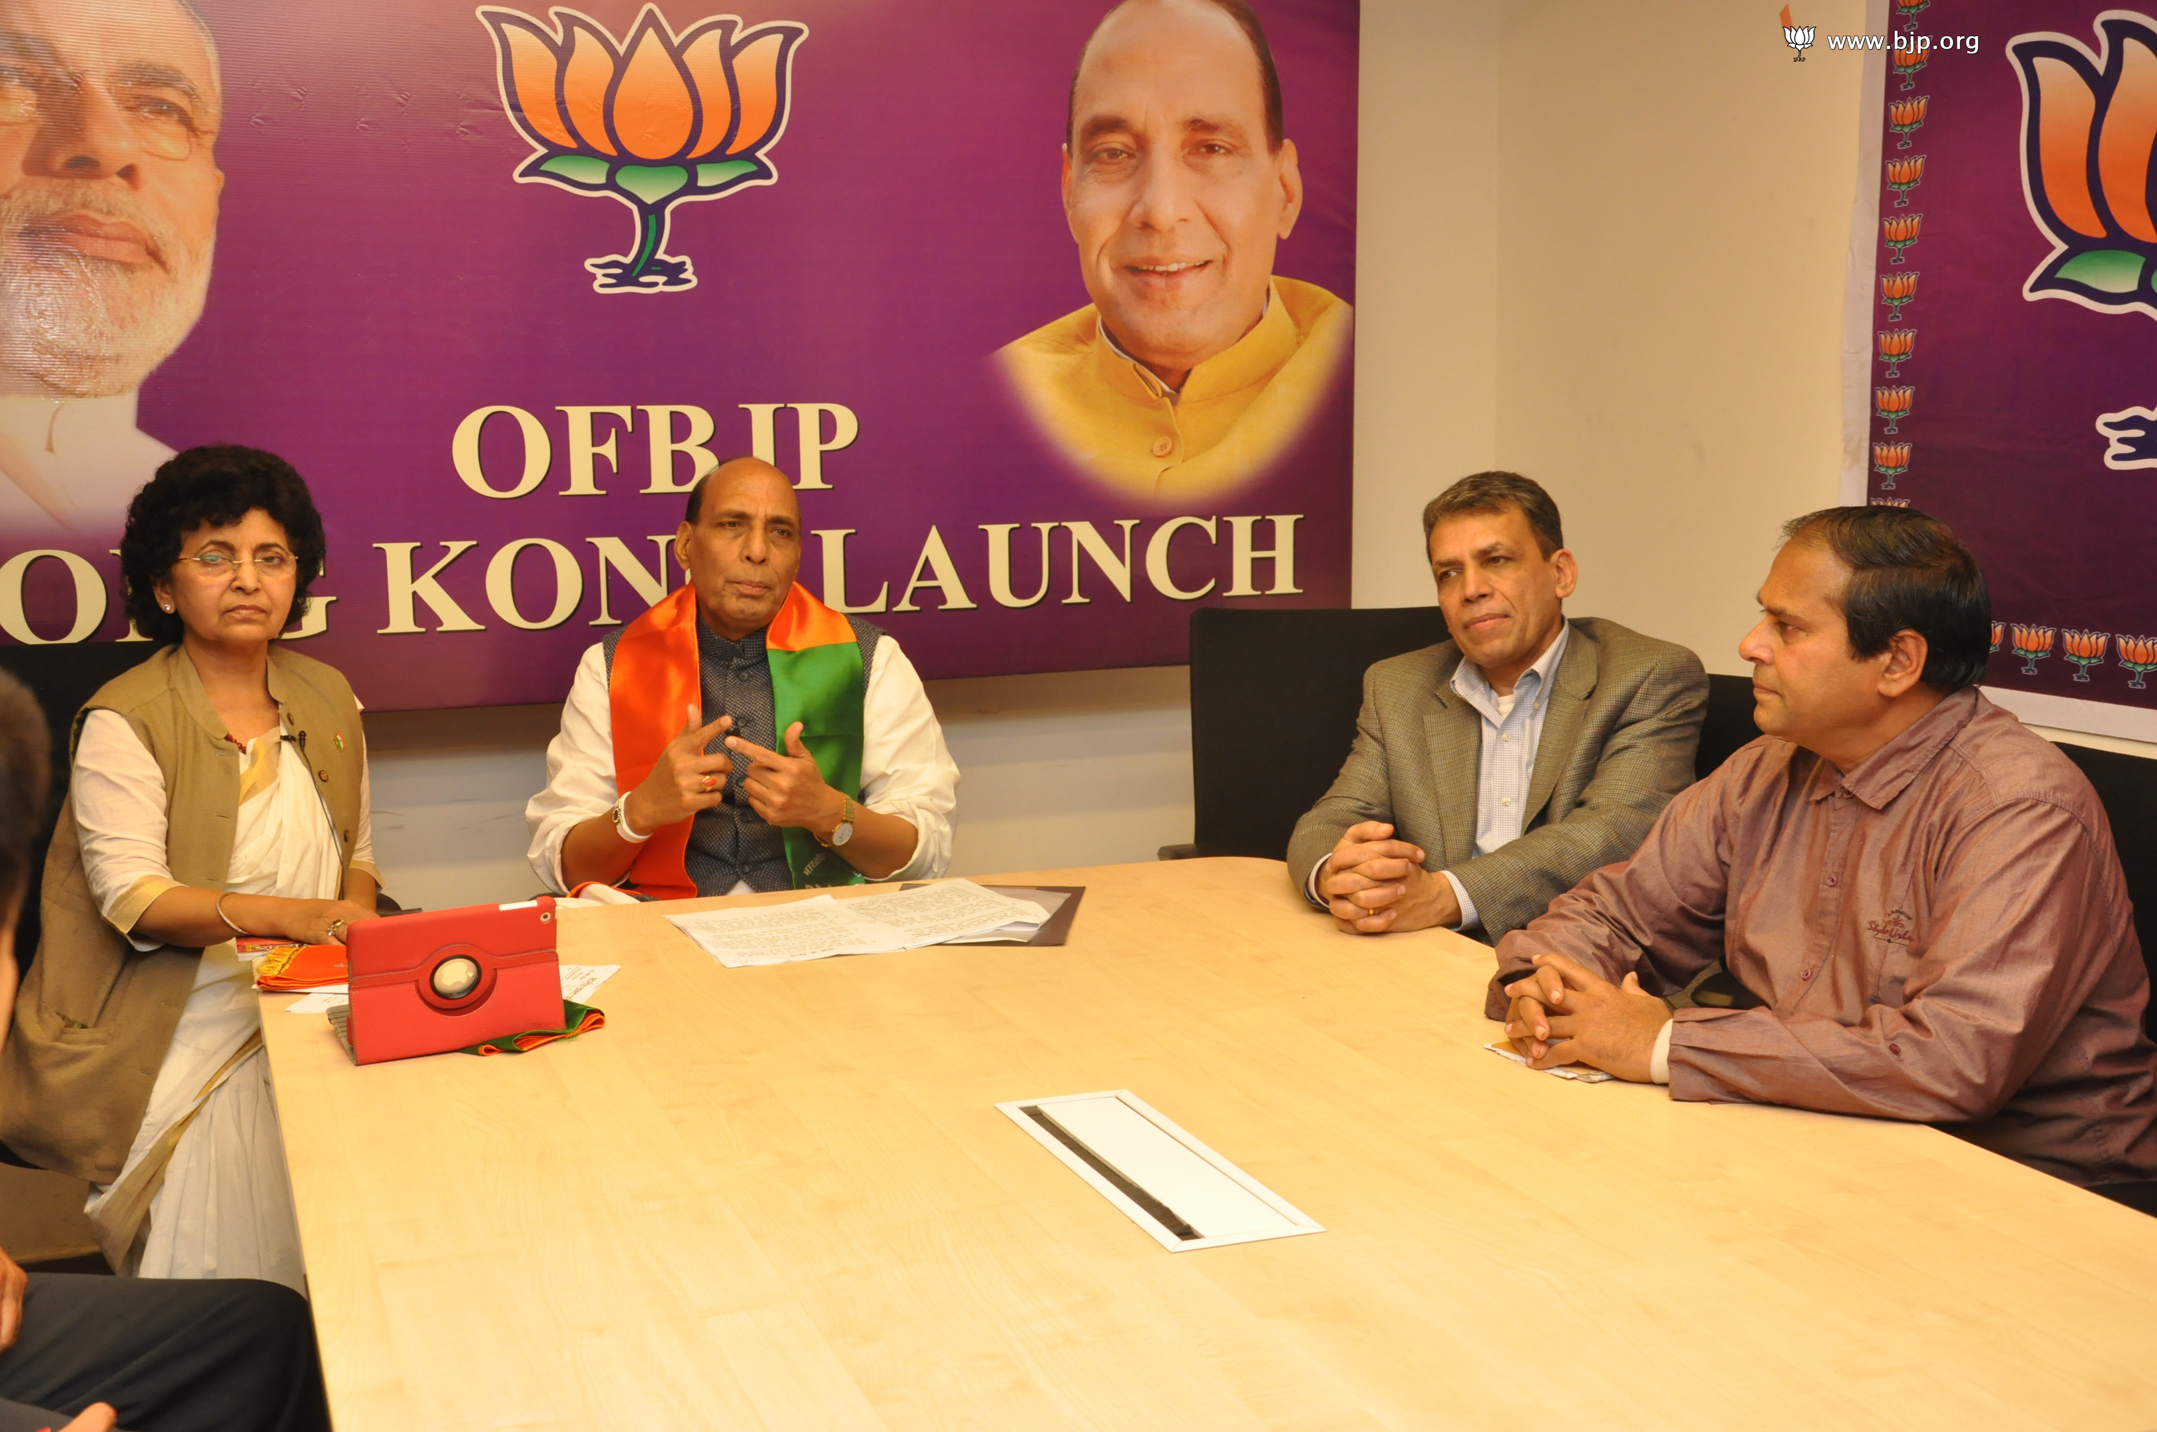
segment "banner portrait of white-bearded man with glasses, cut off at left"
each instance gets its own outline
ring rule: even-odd
[[[216,244],[218,54],[186,0],[0,0],[0,543],[110,537]]]

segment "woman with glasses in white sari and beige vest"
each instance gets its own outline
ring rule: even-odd
[[[91,1180],[123,1272],[304,1292],[233,942],[341,942],[375,914],[358,701],[276,641],[321,561],[306,483],[257,449],[179,453],[127,509],[127,615],[164,647],[75,718],[0,1072],[0,1139]]]

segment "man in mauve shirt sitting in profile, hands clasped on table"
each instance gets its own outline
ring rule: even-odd
[[[1499,942],[1490,1018],[1536,1068],[1939,1124],[2157,1212],[2151,981],[2112,828],[1976,690],[1984,576],[1907,507],[1784,539],[1739,647],[1767,735]],[[1674,1014],[1661,996],[1715,960],[1758,1005]]]

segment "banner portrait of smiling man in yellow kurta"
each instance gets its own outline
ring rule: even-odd
[[[1115,492],[1260,477],[1348,356],[1352,311],[1281,278],[1303,175],[1242,0],[1126,0],[1072,80],[1063,211],[1094,302],[997,352],[1020,405]]]

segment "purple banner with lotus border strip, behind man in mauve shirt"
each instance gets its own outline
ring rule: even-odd
[[[2012,710],[2157,735],[2157,22],[1894,9],[1866,492],[1978,554]]]

